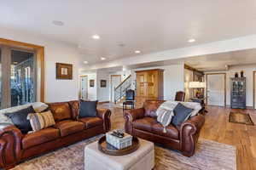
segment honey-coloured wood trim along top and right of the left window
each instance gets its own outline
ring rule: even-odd
[[[5,38],[0,38],[0,45],[9,46],[10,48],[20,48],[30,51],[35,51],[37,53],[37,71],[38,71],[38,82],[40,85],[40,101],[44,102],[44,46],[35,45],[32,43],[18,42],[14,40],[9,40]],[[38,89],[37,89],[38,90]],[[38,100],[38,99],[37,99]]]

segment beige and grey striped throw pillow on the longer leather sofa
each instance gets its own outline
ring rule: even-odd
[[[42,113],[31,113],[27,116],[33,132],[37,132],[46,127],[51,127],[55,125],[55,119],[51,111],[45,111]]]

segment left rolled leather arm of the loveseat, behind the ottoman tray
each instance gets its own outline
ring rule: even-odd
[[[124,112],[125,132],[132,134],[132,122],[145,116],[144,108],[132,109]]]

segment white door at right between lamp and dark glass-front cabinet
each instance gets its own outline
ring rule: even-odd
[[[224,74],[207,75],[207,104],[225,105],[225,77]]]

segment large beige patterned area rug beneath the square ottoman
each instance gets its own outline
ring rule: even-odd
[[[99,136],[25,161],[13,170],[84,170],[84,146]],[[154,170],[236,170],[236,147],[211,140],[199,140],[195,156],[155,146]],[[86,160],[85,160],[86,161]]]

